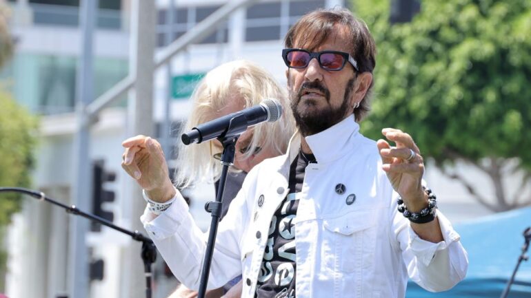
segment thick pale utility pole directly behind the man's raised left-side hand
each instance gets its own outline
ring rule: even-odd
[[[133,0],[131,3],[130,75],[136,77],[128,99],[128,137],[143,134],[154,136],[153,73],[155,46],[155,1]],[[130,208],[124,211],[131,228],[143,231],[139,220],[146,202],[142,190],[132,182],[125,196]],[[141,244],[131,241],[122,258],[123,284],[121,297],[146,297],[146,277],[141,259]]]

